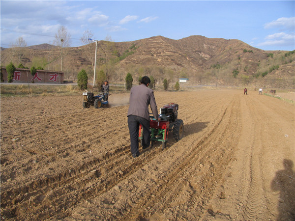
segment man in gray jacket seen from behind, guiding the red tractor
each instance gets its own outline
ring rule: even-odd
[[[159,120],[158,108],[153,90],[148,88],[149,83],[150,79],[148,76],[144,76],[141,80],[141,84],[132,87],[130,91],[127,117],[131,142],[131,154],[133,158],[140,155],[138,147],[139,124],[143,126],[143,150],[147,150],[150,147],[148,105],[151,108],[154,118]]]

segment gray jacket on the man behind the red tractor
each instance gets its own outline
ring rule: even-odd
[[[155,119],[158,118],[158,108],[155,101],[153,90],[148,88],[146,84],[134,86],[130,91],[129,109],[127,116],[136,115],[149,120],[149,109],[153,113]]]

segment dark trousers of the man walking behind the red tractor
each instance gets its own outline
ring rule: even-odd
[[[131,154],[138,155],[138,136],[139,136],[139,124],[143,126],[143,147],[149,146],[149,120],[135,115],[128,116],[128,128],[131,142]]]

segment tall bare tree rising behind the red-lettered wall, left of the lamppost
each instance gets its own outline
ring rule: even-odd
[[[61,71],[62,71],[62,59],[64,56],[63,48],[70,47],[71,45],[71,35],[68,33],[64,26],[60,26],[58,33],[55,35],[54,45],[59,47],[60,59],[61,59]]]

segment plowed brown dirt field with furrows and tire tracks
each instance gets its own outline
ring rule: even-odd
[[[295,106],[258,92],[155,92],[184,137],[133,159],[129,94],[1,98],[1,220],[295,220]],[[293,166],[293,167],[292,167]]]

